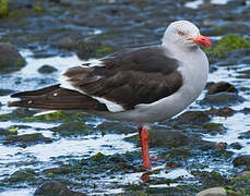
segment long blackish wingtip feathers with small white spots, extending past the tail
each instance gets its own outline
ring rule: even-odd
[[[48,110],[98,110],[108,111],[106,106],[79,91],[61,88],[60,85],[38,90],[22,91],[11,97],[21,100],[9,102],[9,107],[39,108]]]

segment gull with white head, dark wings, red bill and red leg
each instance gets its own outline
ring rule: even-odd
[[[162,44],[118,51],[67,69],[59,84],[11,95],[9,107],[45,110],[84,110],[108,120],[138,125],[142,163],[151,170],[148,125],[170,119],[202,93],[211,47],[189,21],[171,22]]]

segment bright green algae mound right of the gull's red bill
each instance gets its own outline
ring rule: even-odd
[[[230,34],[219,39],[215,47],[205,48],[204,51],[206,54],[224,59],[227,57],[225,52],[249,47],[250,44],[247,39],[239,35]]]

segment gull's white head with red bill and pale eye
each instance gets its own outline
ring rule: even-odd
[[[167,27],[163,37],[163,46],[169,45],[179,47],[212,46],[210,39],[202,36],[199,28],[189,21],[177,21]]]

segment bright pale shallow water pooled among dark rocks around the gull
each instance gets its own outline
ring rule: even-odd
[[[22,90],[29,90],[35,89],[41,86],[46,86],[48,84],[55,84],[57,83],[57,78],[59,77],[59,73],[63,71],[64,69],[72,66],[72,65],[79,65],[83,63],[84,61],[81,61],[75,54],[71,57],[52,57],[52,58],[45,58],[45,59],[34,59],[32,57],[31,51],[22,51],[22,54],[25,57],[27,61],[27,65],[23,68],[20,72],[5,74],[3,77],[0,78],[0,88],[7,88],[7,89],[22,89]],[[37,72],[37,70],[44,65],[44,64],[50,64],[53,68],[57,68],[59,72],[52,73],[52,74],[40,74]],[[229,69],[227,66],[217,66],[217,71],[210,74],[209,81],[210,82],[218,82],[218,81],[226,81],[231,84],[234,84],[237,88],[241,86],[250,86],[250,79],[245,78],[238,78],[239,71],[248,70],[248,64],[237,64],[231,65]],[[21,79],[21,83],[16,83],[17,78],[24,78]],[[45,83],[40,83],[40,81],[46,81]],[[235,110],[241,110],[246,107],[250,107],[250,95],[247,91],[240,91],[239,94],[242,96],[246,101],[242,103],[239,103],[237,106],[234,106],[233,109]],[[201,100],[204,97],[203,95],[199,98]],[[9,101],[9,96],[2,96],[0,97],[0,102],[3,103],[1,107],[0,113],[9,113],[13,109],[8,108],[5,103]],[[199,105],[199,101],[197,101],[193,106],[190,107],[192,110],[201,110],[201,107]],[[202,106],[202,109],[206,110],[210,107]],[[96,121],[90,121],[86,122],[87,124],[91,124],[93,126],[98,125],[100,122],[105,120],[103,119],[96,119]],[[234,152],[236,152],[235,156],[241,155],[241,154],[249,154],[250,152],[250,144],[247,139],[238,139],[239,133],[249,131],[250,122],[247,114],[243,113],[236,113],[233,117],[229,117],[227,119],[225,118],[213,118],[213,122],[223,123],[227,131],[225,134],[222,135],[203,135],[203,138],[205,140],[211,142],[226,142],[228,144],[238,142],[242,145],[242,148],[240,150],[231,149]],[[123,138],[130,137],[134,134],[106,134],[102,136],[102,134],[95,133],[88,136],[79,136],[73,138],[62,138],[60,136],[52,135],[52,132],[48,131],[47,128],[57,126],[59,123],[43,123],[43,122],[35,122],[35,123],[21,123],[21,122],[0,122],[0,127],[9,127],[11,125],[28,125],[31,128],[20,128],[19,134],[27,134],[27,133],[41,133],[46,137],[56,138],[57,140],[51,144],[37,144],[34,146],[28,146],[26,148],[21,148],[17,146],[5,146],[0,144],[0,180],[4,179],[7,175],[12,174],[13,172],[25,169],[25,168],[35,168],[37,171],[55,167],[51,163],[51,158],[59,158],[61,156],[72,156],[75,159],[86,158],[91,157],[93,155],[96,155],[97,152],[102,152],[104,155],[114,155],[114,154],[123,154],[127,151],[133,151],[133,150],[140,150],[140,148],[136,148],[133,144],[124,142]],[[35,128],[43,128],[41,131],[36,131]],[[107,145],[108,144],[108,145]],[[201,162],[207,162],[207,159],[205,156],[203,158],[200,158],[199,161]],[[20,163],[22,160],[25,161],[35,161],[37,162],[36,166],[33,166],[33,163],[29,164],[22,164]],[[190,159],[191,162],[197,162],[195,159]],[[8,168],[7,168],[8,166]],[[181,169],[172,169],[168,171],[167,173],[163,169],[164,164],[159,166],[159,173],[151,175],[151,177],[157,176],[157,177],[164,177],[164,179],[177,179],[178,176],[182,176],[184,179],[183,184],[187,184],[188,182],[195,183],[197,181],[193,179],[193,175],[190,174],[190,171],[181,168]],[[157,170],[157,168],[155,169]],[[228,172],[230,170],[234,170],[234,167],[231,163],[224,163],[219,166],[211,164],[209,168],[204,169],[206,171],[212,170],[218,170],[223,172]],[[138,184],[141,182],[140,177],[143,174],[143,172],[138,173],[129,173],[129,174],[122,174],[118,175],[115,179],[102,179],[102,183],[110,183],[112,181],[121,181],[123,184],[127,183],[134,183]],[[151,185],[151,187],[167,187],[167,186],[176,186],[181,184],[179,183],[171,183],[170,185],[167,184],[155,184]],[[122,188],[107,188],[103,189],[104,193],[107,194],[116,194],[123,192]],[[24,189],[9,189],[3,193],[0,193],[0,196],[12,196],[12,195],[19,195],[19,196],[28,196],[34,193],[34,188],[24,188]],[[99,194],[99,193],[92,193],[93,195]],[[102,193],[103,194],[103,193]],[[100,195],[102,195],[100,194]]]

